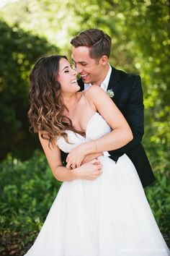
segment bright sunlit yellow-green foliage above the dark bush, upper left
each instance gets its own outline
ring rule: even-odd
[[[0,10],[0,15],[10,25],[17,23],[25,31],[31,30],[40,37],[45,36],[62,48],[62,54],[66,54],[69,48],[68,31],[72,27],[79,30],[78,17],[69,10],[68,0],[19,0],[17,4],[6,4]]]

